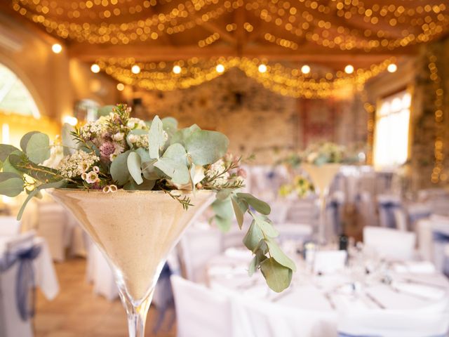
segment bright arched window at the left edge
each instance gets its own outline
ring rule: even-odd
[[[0,63],[0,112],[40,118],[32,95],[17,75]]]

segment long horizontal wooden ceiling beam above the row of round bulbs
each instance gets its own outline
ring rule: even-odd
[[[94,62],[98,58],[127,58],[132,57],[141,62],[145,61],[175,61],[187,58],[212,58],[220,56],[246,56],[248,58],[267,58],[269,60],[333,60],[337,62],[352,62],[363,60],[369,62],[372,59],[389,58],[397,55],[413,55],[417,52],[415,46],[398,48],[394,51],[329,51],[323,48],[304,46],[299,51],[291,51],[277,46],[243,46],[241,53],[233,46],[210,46],[199,48],[198,46],[98,46],[86,44],[74,44],[69,46],[69,55],[87,62]]]

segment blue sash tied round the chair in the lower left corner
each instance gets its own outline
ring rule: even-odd
[[[30,317],[34,317],[35,304],[35,282],[33,260],[41,253],[41,247],[34,245],[27,249],[20,249],[13,253],[8,252],[4,258],[0,259],[0,273],[6,272],[9,268],[18,263],[16,276],[15,298],[20,318],[26,322]],[[31,293],[29,293],[32,289]]]

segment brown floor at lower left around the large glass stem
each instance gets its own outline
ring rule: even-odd
[[[120,300],[110,302],[93,293],[86,283],[86,260],[81,258],[56,263],[60,293],[52,301],[37,293],[34,331],[36,337],[126,337],[126,315]],[[171,312],[170,312],[171,314]],[[165,322],[154,334],[156,310],[151,308],[145,336],[175,337],[176,329]]]

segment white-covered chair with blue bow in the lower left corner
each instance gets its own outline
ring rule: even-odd
[[[13,265],[8,267],[6,261],[6,254],[8,256],[14,256],[19,251],[24,251],[33,248],[34,232],[27,232],[20,234],[16,237],[11,237],[6,243],[5,251],[0,253],[0,336],[1,337],[32,337],[32,322],[27,312],[27,302],[24,305],[20,305],[17,298],[17,277],[19,272],[19,264],[21,260],[16,260]],[[39,254],[39,251],[34,253]],[[35,257],[35,256],[34,256]],[[9,258],[8,258],[9,260]],[[23,263],[27,263],[26,261]],[[24,265],[25,267],[25,265]],[[24,268],[28,269],[28,268]],[[26,277],[24,272],[23,277]],[[24,279],[22,279],[24,280]],[[25,283],[27,289],[25,289],[25,298],[29,296],[28,287],[34,286],[33,279],[29,279],[29,282]],[[35,280],[34,280],[35,281]],[[19,309],[21,308],[21,310]],[[25,314],[25,318],[22,315]],[[31,314],[32,315],[32,314]]]

